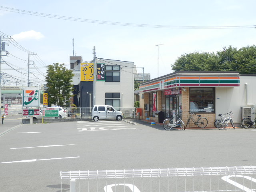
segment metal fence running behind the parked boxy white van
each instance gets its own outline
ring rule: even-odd
[[[64,107],[68,118],[92,118],[92,107]],[[124,118],[137,118],[136,108],[117,108]]]

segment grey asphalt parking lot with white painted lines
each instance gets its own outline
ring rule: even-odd
[[[0,125],[1,192],[58,192],[60,171],[256,162],[255,129],[165,131],[161,125],[136,120],[136,125],[116,120],[22,125],[19,121],[6,119]],[[68,181],[62,184],[62,191],[70,190]]]

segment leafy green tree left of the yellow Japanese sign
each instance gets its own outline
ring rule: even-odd
[[[73,88],[72,71],[66,69],[64,64],[55,63],[47,66],[46,73],[49,103],[55,106],[69,106]]]

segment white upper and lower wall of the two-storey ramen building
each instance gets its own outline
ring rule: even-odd
[[[120,82],[96,82],[96,104],[105,104],[105,93],[120,93],[120,106],[124,108],[134,107],[134,63],[105,60],[105,65],[120,65]],[[102,62],[103,63],[103,62]],[[113,63],[113,64],[111,64]],[[127,67],[126,67],[127,66]]]

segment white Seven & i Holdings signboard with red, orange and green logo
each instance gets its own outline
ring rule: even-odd
[[[40,106],[40,91],[38,88],[24,88],[22,97],[23,107],[39,107]]]

